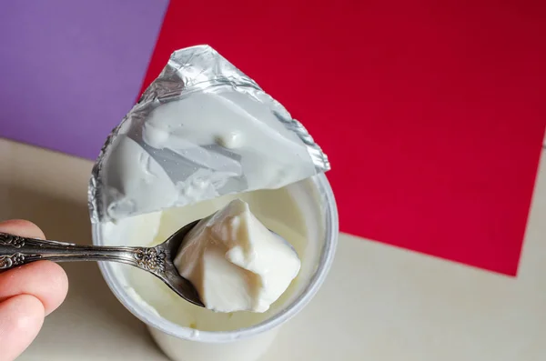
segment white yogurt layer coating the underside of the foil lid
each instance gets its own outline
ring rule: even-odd
[[[142,124],[120,128],[96,202],[107,218],[121,219],[315,175],[308,145],[290,129],[296,125],[279,118],[291,120],[228,86],[161,104]]]

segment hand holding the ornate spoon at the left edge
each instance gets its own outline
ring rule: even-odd
[[[0,232],[45,239],[40,228],[22,220],[1,222]],[[0,273],[0,361],[15,360],[30,345],[67,289],[65,271],[50,261]]]

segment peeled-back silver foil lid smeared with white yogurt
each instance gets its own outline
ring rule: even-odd
[[[329,170],[303,125],[207,45],[181,49],[107,137],[91,221],[273,189]]]

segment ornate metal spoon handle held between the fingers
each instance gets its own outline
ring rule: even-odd
[[[0,270],[39,260],[54,262],[112,261],[159,273],[166,254],[158,247],[81,246],[0,232]]]

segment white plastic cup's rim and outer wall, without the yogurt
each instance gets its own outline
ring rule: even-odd
[[[120,277],[109,263],[99,267],[106,283],[126,308],[148,329],[157,345],[175,361],[255,361],[263,356],[278,334],[279,327],[296,316],[319,290],[332,265],[339,236],[336,202],[325,175],[316,175],[296,185],[304,189],[304,197],[296,199],[308,226],[316,227],[316,234],[308,242],[317,242],[318,252],[314,272],[277,314],[255,326],[234,331],[197,331],[179,326],[151,312],[126,291]],[[302,194],[301,192],[299,192]],[[97,225],[93,225],[93,244],[108,245]]]

